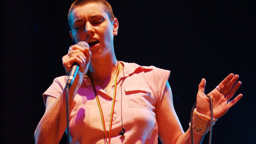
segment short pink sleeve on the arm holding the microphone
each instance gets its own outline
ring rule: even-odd
[[[43,93],[44,105],[47,96],[57,98],[66,86],[67,76],[60,76],[53,80],[52,85]]]

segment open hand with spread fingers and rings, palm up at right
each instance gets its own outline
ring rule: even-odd
[[[218,119],[227,113],[228,109],[233,107],[241,98],[242,94],[237,95],[233,100],[230,100],[240,85],[240,81],[237,81],[238,75],[229,74],[219,85],[219,88],[215,88],[209,95],[212,98],[213,103],[213,118]],[[198,86],[198,93],[196,95],[196,109],[198,112],[210,116],[210,103],[209,98],[204,94],[206,81],[203,78]],[[235,85],[234,85],[235,84]],[[229,101],[230,100],[230,101]]]

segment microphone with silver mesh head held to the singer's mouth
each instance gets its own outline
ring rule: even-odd
[[[89,44],[87,44],[86,42],[84,41],[81,41],[79,43],[77,43],[77,45],[81,46],[83,49],[85,49],[86,47],[89,48]],[[73,84],[73,81],[75,80],[76,78],[76,74],[77,74],[77,71],[79,69],[79,64],[78,63],[73,63],[71,69],[70,69],[70,73],[69,73],[69,76],[68,76],[68,81],[67,81],[67,88],[70,88],[71,85]]]

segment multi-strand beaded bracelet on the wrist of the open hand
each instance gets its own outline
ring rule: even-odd
[[[212,125],[214,125],[217,120],[218,119],[212,118]],[[199,113],[195,108],[193,112],[193,132],[198,135],[205,135],[210,130],[210,124],[211,117]]]

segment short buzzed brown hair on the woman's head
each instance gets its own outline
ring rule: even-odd
[[[111,5],[106,1],[106,0],[76,0],[70,7],[68,11],[68,26],[71,29],[71,12],[76,8],[76,7],[81,7],[86,4],[92,4],[92,3],[98,3],[104,6],[105,12],[108,14],[109,20],[112,22],[115,18],[113,10]]]

